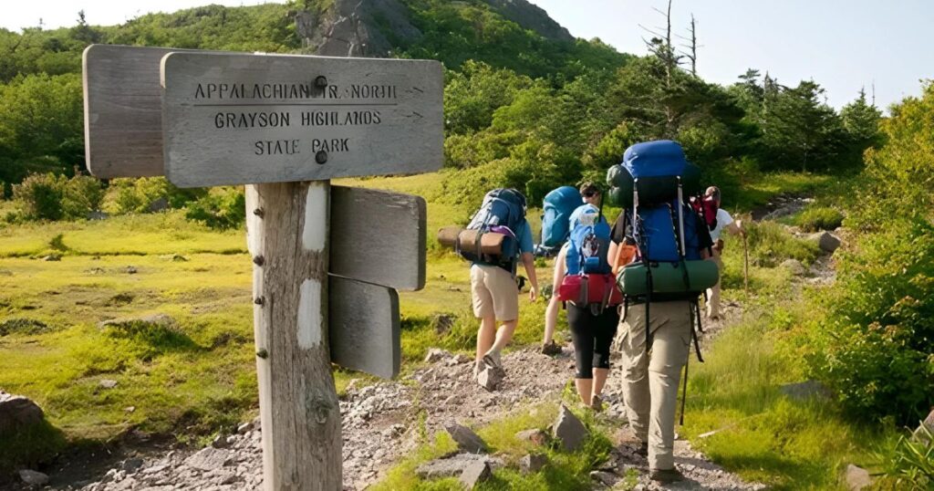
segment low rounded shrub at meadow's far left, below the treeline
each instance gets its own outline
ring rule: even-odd
[[[90,176],[32,174],[14,186],[13,195],[29,219],[74,220],[100,207],[104,188]]]

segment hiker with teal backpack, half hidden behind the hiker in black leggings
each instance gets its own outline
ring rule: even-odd
[[[571,186],[562,186],[545,195],[543,200],[542,216],[542,243],[539,244],[539,251],[560,251],[555,260],[555,273],[551,298],[548,300],[548,308],[545,309],[545,338],[542,339],[543,354],[560,354],[561,347],[554,341],[555,327],[558,325],[558,310],[561,302],[556,295],[558,293],[559,267],[562,265],[562,254],[566,250],[562,247],[567,244],[571,237],[573,229],[571,215],[581,207],[581,204],[590,204],[594,207],[601,206],[600,188],[593,182],[587,181],[576,190]],[[563,275],[562,275],[563,278]]]

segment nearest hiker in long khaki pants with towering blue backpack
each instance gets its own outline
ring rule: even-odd
[[[702,361],[699,298],[718,280],[716,265],[706,260],[713,246],[709,229],[688,205],[700,194],[700,169],[687,163],[677,143],[651,141],[627,149],[607,181],[611,200],[623,208],[609,255],[630,245],[636,252],[616,276],[624,296],[619,335],[626,411],[651,479],[680,481],[672,455],[678,383],[692,339]]]

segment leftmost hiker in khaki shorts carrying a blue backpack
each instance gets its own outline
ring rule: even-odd
[[[490,226],[493,224],[494,226]],[[474,215],[468,229],[482,228],[502,232],[514,243],[510,251],[497,258],[475,258],[470,269],[471,299],[474,315],[480,319],[476,336],[474,376],[489,368],[503,374],[501,353],[518,325],[518,283],[516,267],[519,260],[531,283],[529,299],[538,296],[538,280],[532,257],[531,228],[525,220],[525,196],[515,189],[491,191]],[[505,230],[503,230],[505,229]],[[505,249],[506,246],[503,246]],[[495,260],[491,260],[495,259]],[[497,321],[501,322],[497,329]]]

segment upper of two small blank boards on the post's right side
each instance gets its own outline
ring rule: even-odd
[[[426,222],[421,196],[331,186],[329,272],[397,290],[421,290]]]

